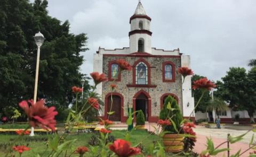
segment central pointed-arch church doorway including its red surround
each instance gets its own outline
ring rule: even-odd
[[[141,110],[145,115],[145,121],[148,121],[148,119],[151,116],[150,104],[151,104],[151,98],[146,91],[140,90],[133,97],[133,111]],[[135,115],[134,115],[134,118],[135,118]]]

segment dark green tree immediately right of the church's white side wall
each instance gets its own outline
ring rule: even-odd
[[[204,76],[199,76],[199,75],[193,75],[191,78],[191,81],[194,82],[196,80],[202,79],[204,78]],[[195,99],[195,104],[197,103],[197,101],[199,100],[199,98],[201,97],[203,90],[202,89],[196,89],[193,90],[193,95],[194,95],[194,99]],[[201,111],[201,112],[205,112],[206,111],[206,107],[210,104],[211,101],[211,97],[210,97],[210,92],[206,91],[204,93],[203,98],[201,99],[200,103],[198,104],[197,108],[195,109],[195,111]]]

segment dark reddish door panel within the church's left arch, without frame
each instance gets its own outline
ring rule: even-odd
[[[109,120],[121,121],[121,98],[117,95],[112,95],[112,99],[113,99],[113,104],[112,104],[111,111],[115,111],[115,113],[109,116]],[[111,107],[111,95],[108,97],[108,112],[110,111],[110,107]]]

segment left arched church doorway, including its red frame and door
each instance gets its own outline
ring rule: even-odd
[[[111,108],[111,93],[108,93],[105,97],[105,119],[108,118],[107,112],[114,111],[114,114],[109,116],[109,120],[111,121],[121,121],[123,119],[123,107],[124,107],[124,99],[123,96],[119,93],[112,93],[112,108]]]

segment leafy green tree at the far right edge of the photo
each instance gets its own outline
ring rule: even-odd
[[[254,123],[256,69],[252,68],[247,74],[245,68],[231,67],[221,79],[223,83],[218,90],[222,99],[229,102],[233,110],[246,110]]]

